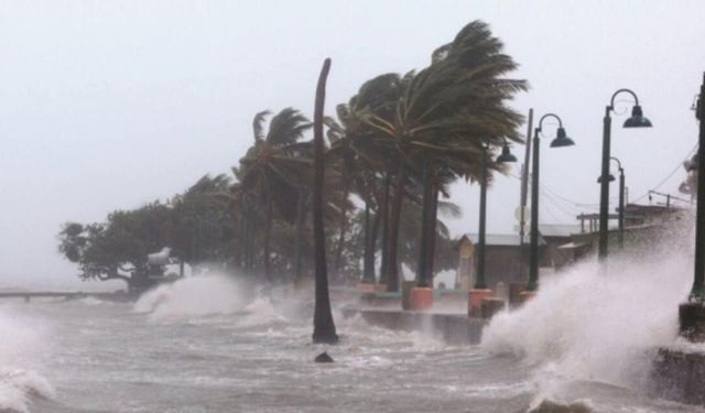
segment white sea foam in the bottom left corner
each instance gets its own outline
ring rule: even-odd
[[[0,412],[28,412],[30,396],[52,396],[48,381],[34,371],[44,337],[32,320],[0,309]]]

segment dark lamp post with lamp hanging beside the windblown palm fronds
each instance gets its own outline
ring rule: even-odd
[[[475,285],[468,293],[468,314],[470,316],[479,315],[482,305],[482,298],[492,295],[492,291],[487,289],[485,282],[485,239],[486,239],[486,222],[487,222],[487,150],[488,146],[482,145],[482,162],[480,172],[480,222],[477,239],[477,267]],[[497,156],[497,163],[510,163],[517,162],[517,157],[509,151],[509,144],[505,141],[502,145],[502,153]]]

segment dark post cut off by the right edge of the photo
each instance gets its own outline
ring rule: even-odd
[[[691,290],[691,301],[703,301],[703,271],[705,271],[705,160],[703,159],[703,148],[705,148],[705,74],[701,95],[697,99],[696,117],[701,122],[697,139],[697,206],[695,215],[695,273],[693,276],[693,289]]]

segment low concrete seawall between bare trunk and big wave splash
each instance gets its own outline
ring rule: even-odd
[[[343,308],[345,317],[360,315],[367,323],[393,330],[421,332],[451,345],[474,345],[480,341],[481,318],[460,314],[433,314],[382,308]]]

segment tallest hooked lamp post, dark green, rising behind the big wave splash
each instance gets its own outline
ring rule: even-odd
[[[622,94],[629,94],[634,98],[634,106],[631,108],[631,117],[629,117],[623,127],[625,128],[651,128],[651,121],[643,117],[641,106],[639,106],[639,98],[637,94],[629,89],[619,89],[615,91],[612,98],[605,108],[605,118],[603,119],[603,169],[600,173],[600,187],[599,187],[599,248],[598,258],[600,261],[607,259],[607,222],[608,222],[608,209],[609,209],[609,144],[611,134],[612,118],[610,113],[615,110],[615,98]]]

